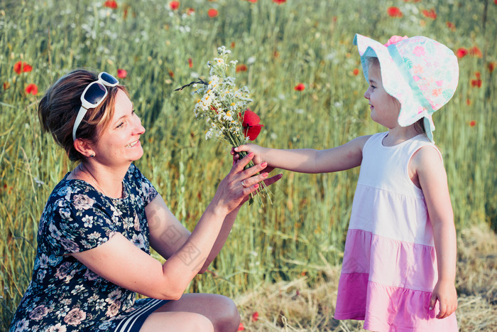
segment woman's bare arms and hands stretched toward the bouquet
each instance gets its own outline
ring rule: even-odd
[[[157,224],[159,220],[152,222],[155,231],[168,230],[168,227],[172,227],[169,231],[179,232],[178,236],[182,239],[180,240],[182,243],[178,242],[178,245],[173,247],[160,247],[159,250],[169,255],[164,264],[138,249],[120,233],[103,245],[72,256],[93,272],[121,287],[155,299],[179,299],[193,277],[212,256],[211,253],[216,252],[217,255],[222,247],[229,233],[229,230],[222,230],[226,225],[225,220],[229,220],[228,223],[232,225],[237,210],[248,200],[249,194],[258,188],[256,182],[265,178],[264,173],[254,176],[263,170],[265,164],[258,164],[244,171],[244,166],[252,158],[253,155],[249,155],[234,164],[229,174],[219,183],[214,199],[209,203],[191,235],[188,235],[187,230],[173,218],[169,210],[163,210],[162,207],[160,212],[155,211],[158,213],[156,217],[168,215],[164,222],[165,226],[159,226],[160,224]],[[246,181],[251,186],[244,188],[241,186],[241,181]],[[159,208],[160,204],[160,201],[156,202],[155,208]],[[151,208],[153,206],[151,205]],[[157,232],[155,234],[151,242],[157,245],[161,235],[157,235]],[[167,232],[162,236],[164,239],[160,241],[161,243],[170,240],[167,238]],[[185,237],[187,240],[183,240]]]

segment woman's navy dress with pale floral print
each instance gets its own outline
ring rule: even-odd
[[[136,299],[67,254],[102,245],[117,232],[150,254],[145,206],[157,195],[133,164],[120,199],[66,175],[41,215],[33,277],[10,331],[138,331],[167,301]]]

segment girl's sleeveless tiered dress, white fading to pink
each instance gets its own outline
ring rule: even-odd
[[[438,302],[428,309],[437,282],[432,225],[408,174],[415,151],[437,148],[424,134],[383,146],[387,134],[364,145],[334,317],[364,319],[371,331],[457,331],[455,314],[435,318]]]

